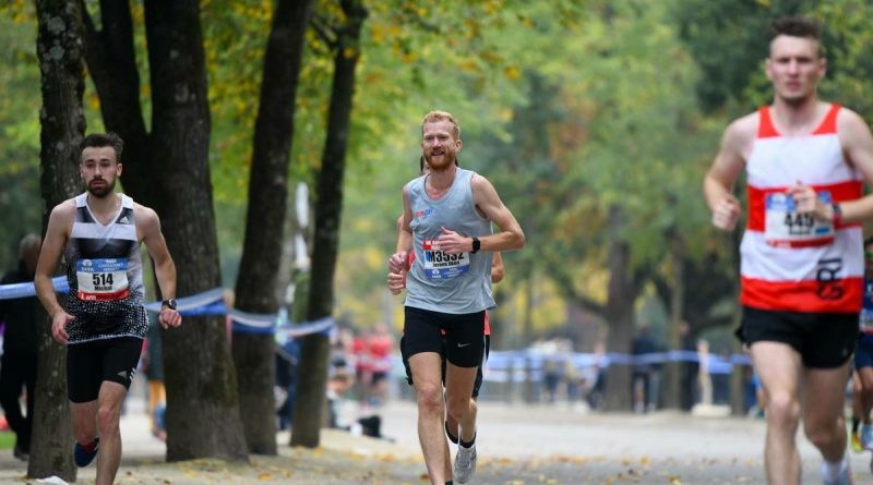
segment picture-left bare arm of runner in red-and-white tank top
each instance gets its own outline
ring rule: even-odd
[[[733,196],[733,183],[745,166],[745,151],[751,144],[754,119],[741,118],[725,130],[721,147],[703,182],[706,203],[713,211],[713,225],[732,230],[740,218],[740,201]]]

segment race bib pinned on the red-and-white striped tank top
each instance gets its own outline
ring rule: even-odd
[[[818,199],[830,204],[830,192],[820,192]],[[794,199],[785,193],[767,194],[765,199],[765,232],[773,246],[823,246],[834,241],[834,225],[811,214],[798,214]]]

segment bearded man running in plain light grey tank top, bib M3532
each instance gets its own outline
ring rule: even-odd
[[[444,485],[453,481],[445,463],[442,354],[445,404],[461,424],[454,477],[466,483],[476,468],[470,395],[485,351],[485,311],[494,306],[491,254],[523,247],[525,237],[493,185],[455,165],[463,143],[452,114],[426,114],[421,135],[430,173],[403,191],[403,230],[411,234],[407,251],[416,253],[406,277],[403,352],[418,396],[418,436],[428,474],[433,485]],[[491,222],[501,232],[492,234]],[[403,272],[407,251],[390,258],[392,274]]]

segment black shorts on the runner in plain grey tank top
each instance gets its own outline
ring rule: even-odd
[[[421,352],[435,352],[458,367],[478,367],[482,363],[485,311],[457,315],[411,306],[404,311],[404,344],[400,349],[404,360]]]

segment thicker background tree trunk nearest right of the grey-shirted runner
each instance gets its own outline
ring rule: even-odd
[[[634,334],[634,301],[636,292],[631,280],[631,247],[624,240],[624,209],[609,208],[609,287],[606,319],[609,325],[607,351],[630,354]],[[631,410],[631,366],[611,363],[607,371],[603,405],[608,411]]]

